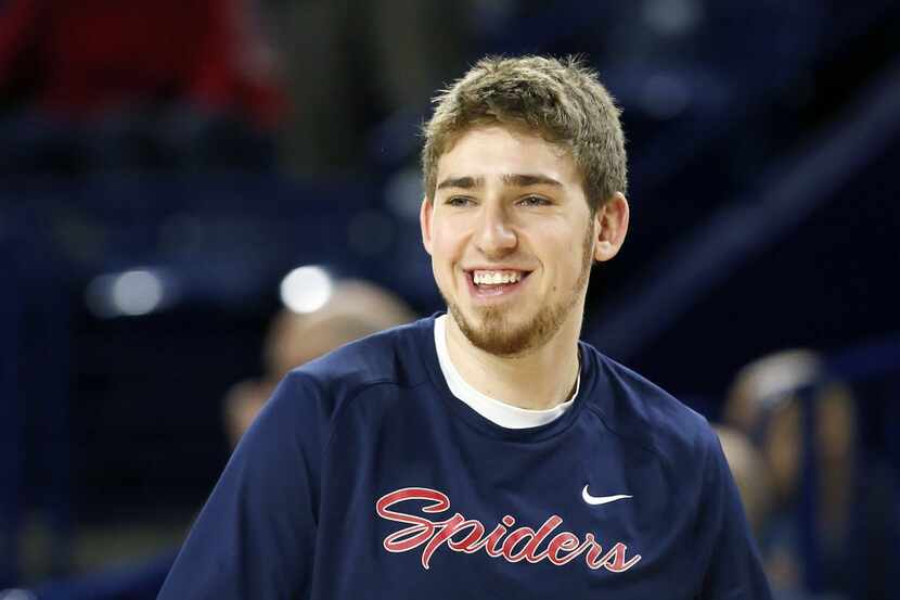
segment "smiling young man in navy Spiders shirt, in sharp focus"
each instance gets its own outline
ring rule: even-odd
[[[449,314],[293,371],[159,598],[769,598],[706,421],[578,341],[628,228],[595,75],[479,62],[423,167]]]

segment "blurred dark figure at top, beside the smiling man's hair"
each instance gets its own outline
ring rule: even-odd
[[[280,130],[291,170],[360,168],[386,119],[409,124],[407,142],[432,92],[464,64],[475,3],[262,0],[292,106]]]

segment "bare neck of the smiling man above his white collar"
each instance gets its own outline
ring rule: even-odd
[[[519,408],[553,408],[569,399],[578,379],[581,312],[574,308],[547,343],[516,357],[475,347],[448,314],[447,349],[460,375],[481,394]]]

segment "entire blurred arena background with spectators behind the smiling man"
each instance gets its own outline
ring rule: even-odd
[[[583,337],[720,427],[780,598],[900,598],[900,4],[0,0],[0,599],[154,598],[288,368],[442,309],[419,128],[580,53]]]

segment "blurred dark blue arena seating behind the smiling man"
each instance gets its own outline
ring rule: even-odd
[[[143,110],[63,119],[8,93],[21,79],[5,78],[7,56],[24,43],[11,12],[29,4],[0,2],[0,589],[153,598],[147,577],[165,557],[137,559],[164,542],[111,551],[113,565],[87,575],[98,563],[78,559],[79,539],[104,525],[187,525],[228,457],[220,398],[261,372],[284,275],[320,265],[421,314],[441,309],[417,230],[427,106],[380,110],[356,163],[303,178],[285,166],[274,100],[265,117],[178,101],[146,120]],[[95,16],[102,4],[91,2]],[[583,53],[625,110],[632,231],[594,271],[584,337],[710,419],[741,366],[815,348],[853,388],[858,460],[884,468],[875,478],[896,493],[900,7],[466,5],[463,59]],[[813,502],[807,449],[802,502]],[[802,577],[819,592],[802,502]],[[896,549],[896,512],[856,522],[884,523]],[[23,541],[35,514],[50,538],[37,566]],[[856,562],[873,550],[849,549]]]

